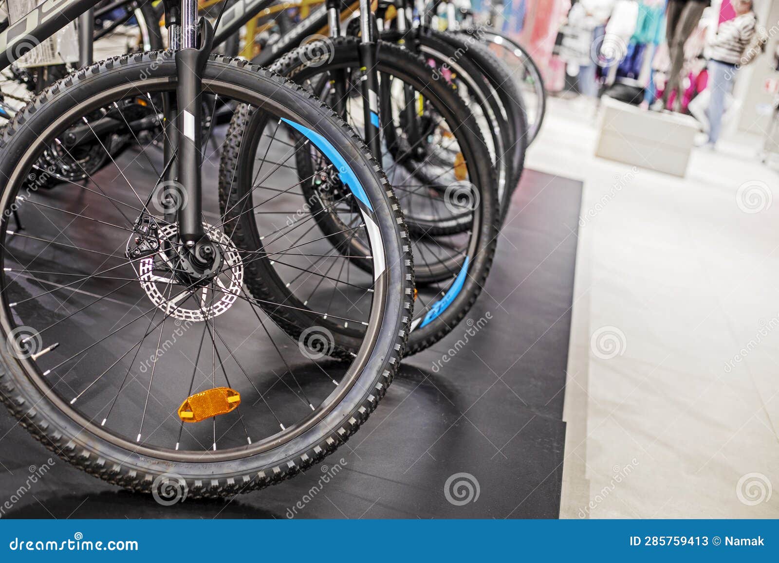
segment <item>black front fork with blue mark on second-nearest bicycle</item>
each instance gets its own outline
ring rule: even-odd
[[[360,32],[358,45],[360,62],[365,143],[377,160],[382,157],[381,126],[379,125],[379,72],[376,70],[377,38],[370,0],[360,0]]]

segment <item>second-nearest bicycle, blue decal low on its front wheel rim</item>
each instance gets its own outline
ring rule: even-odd
[[[409,225],[409,243],[414,255],[418,306],[411,316],[407,354],[432,346],[460,322],[481,292],[495,253],[499,208],[495,172],[480,128],[471,111],[450,83],[435,79],[431,69],[413,51],[375,40],[371,19],[359,20],[360,37],[340,37],[339,5],[329,0],[330,38],[315,40],[280,58],[272,69],[289,76],[326,100],[365,139],[372,139],[372,153],[381,155]],[[361,15],[371,14],[367,2]],[[380,19],[379,19],[380,21]],[[308,26],[318,22],[308,22]],[[365,63],[365,50],[373,57]],[[374,90],[373,84],[378,84]],[[368,92],[366,93],[366,87]],[[234,187],[237,202],[222,197],[223,213],[252,206],[262,192],[252,187],[257,171],[252,164],[262,157],[263,135],[269,124],[263,116],[240,107],[227,134],[231,140],[223,153],[222,185]],[[272,131],[272,129],[271,129]],[[301,179],[312,178],[312,159],[298,155]],[[322,213],[337,190],[326,178],[312,178],[302,185],[309,196],[319,227],[333,235],[344,232],[348,218]],[[258,232],[268,220],[244,214],[240,223],[241,248],[263,249]],[[342,236],[333,252],[361,255],[365,243],[359,237]],[[314,262],[307,268],[316,268]],[[257,265],[249,277],[252,294],[287,298],[283,283]],[[296,310],[278,311],[277,324],[297,336],[305,315],[306,300]],[[327,328],[344,350],[359,327],[333,320]]]

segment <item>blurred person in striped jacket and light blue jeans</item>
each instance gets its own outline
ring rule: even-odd
[[[752,0],[731,0],[735,18],[721,23],[717,36],[710,44],[710,102],[709,139],[707,146],[714,148],[722,128],[722,114],[725,111],[725,97],[733,93],[733,83],[738,68],[750,57],[749,45],[756,34],[757,18],[752,9]],[[751,60],[751,58],[749,58]]]

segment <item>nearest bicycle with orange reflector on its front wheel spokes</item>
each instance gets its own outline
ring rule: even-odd
[[[0,69],[95,4],[39,6],[0,33]],[[216,497],[291,477],[357,431],[404,353],[413,271],[397,199],[354,132],[299,86],[209,55],[213,28],[196,20],[194,0],[165,0],[164,9],[169,51],[80,69],[2,130],[0,399],[35,438],[96,477]],[[259,185],[276,191],[255,211],[288,213],[280,194],[304,203],[285,162],[305,147],[315,176],[340,190],[329,209],[348,203],[351,230],[368,242],[370,255],[359,257],[367,266],[355,267],[356,255],[328,258],[343,276],[293,280],[279,265],[292,297],[314,292],[297,340],[266,313],[294,305],[269,304],[242,283],[257,262],[329,252],[330,234],[294,223],[267,233],[273,251],[234,244],[234,231],[208,214],[216,194],[206,198],[201,175],[213,133],[203,130],[204,93],[275,124]],[[129,135],[134,150],[106,150],[115,135]],[[106,166],[40,197],[45,154],[78,167],[74,152],[96,145]],[[11,228],[14,214],[23,228]],[[317,290],[327,278],[348,280],[348,293],[333,301],[330,287]],[[328,317],[364,327],[335,363],[338,343],[321,326]]]

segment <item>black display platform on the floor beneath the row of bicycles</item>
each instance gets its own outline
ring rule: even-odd
[[[378,410],[322,465],[230,501],[168,508],[55,458],[2,517],[556,518],[580,198],[579,181],[525,172],[470,320],[404,361]],[[0,501],[51,457],[15,423],[0,412]],[[472,483],[465,504],[460,480]]]

